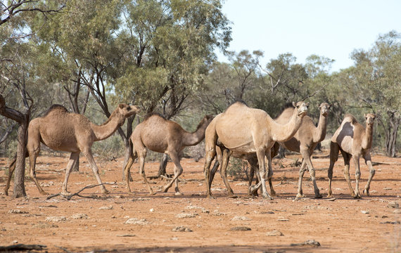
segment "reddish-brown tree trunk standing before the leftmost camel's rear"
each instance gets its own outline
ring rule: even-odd
[[[26,139],[27,139],[27,126],[28,120],[25,117],[25,122],[18,127],[18,145],[17,145],[17,160],[15,161],[15,174],[14,174],[14,192],[13,197],[26,197],[24,179],[25,179],[25,153]]]

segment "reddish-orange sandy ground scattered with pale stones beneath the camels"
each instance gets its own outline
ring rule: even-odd
[[[206,199],[204,161],[189,159],[182,161],[184,174],[179,187],[184,195],[175,196],[173,188],[168,193],[148,195],[137,174],[137,163],[132,168],[134,193],[128,194],[121,180],[122,158],[104,161],[96,157],[103,182],[116,182],[106,186],[109,195],[102,195],[96,187],[82,191],[83,197],[46,200],[30,179],[25,182],[26,198],[13,199],[1,193],[0,246],[46,245],[42,252],[400,252],[400,209],[391,205],[401,202],[401,158],[374,154],[376,176],[371,197],[363,195],[362,200],[355,200],[343,177],[340,157],[333,175],[336,200],[329,200],[327,155],[318,153],[312,160],[324,198],[313,198],[313,186],[305,173],[307,197],[300,200],[294,200],[299,167],[293,165],[300,155],[274,160],[273,183],[279,194],[274,200],[248,197],[243,180],[231,181],[239,197],[229,198],[219,175],[212,186],[215,199]],[[0,158],[1,191],[7,162]],[[46,192],[61,192],[67,162],[67,154],[38,158],[37,176]],[[158,163],[147,163],[147,176],[154,176],[157,169]],[[363,190],[369,174],[363,162],[361,171]],[[172,173],[170,162],[167,172]],[[353,166],[351,174],[354,178]],[[152,179],[151,183],[154,190],[160,190],[166,181]],[[77,193],[95,184],[81,157],[80,172],[70,176],[68,190]],[[10,191],[12,195],[13,185]],[[179,226],[184,227],[183,232],[174,231]],[[235,231],[241,229],[238,227],[250,230]],[[272,231],[278,232],[271,236]],[[293,245],[307,240],[320,246]]]

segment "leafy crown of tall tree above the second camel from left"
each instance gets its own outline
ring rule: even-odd
[[[125,1],[122,16],[125,71],[115,93],[170,119],[204,85],[215,48],[231,40],[221,1]]]

